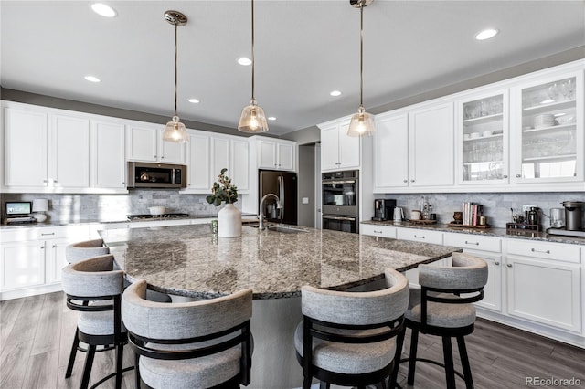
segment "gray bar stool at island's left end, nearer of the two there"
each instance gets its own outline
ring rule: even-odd
[[[121,316],[123,271],[114,269],[113,256],[107,254],[70,264],[63,268],[61,276],[67,306],[80,311],[65,377],[71,376],[79,344],[85,342],[88,349],[80,387],[87,388],[96,347],[113,345],[116,350],[115,373],[102,378],[94,386],[115,376],[116,388],[120,388],[123,345],[126,342]]]

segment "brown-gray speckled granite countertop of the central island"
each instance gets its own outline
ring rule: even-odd
[[[251,288],[254,299],[298,297],[303,285],[349,289],[448,258],[458,247],[303,227],[306,232],[259,231],[217,237],[208,225],[101,231],[131,281],[188,297],[211,298]]]

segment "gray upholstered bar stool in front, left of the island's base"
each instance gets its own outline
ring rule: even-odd
[[[146,281],[122,296],[134,352],[136,388],[216,388],[250,384],[252,290],[164,304],[146,300]]]

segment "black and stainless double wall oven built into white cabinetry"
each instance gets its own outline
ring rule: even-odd
[[[359,232],[359,171],[323,173],[323,229]]]

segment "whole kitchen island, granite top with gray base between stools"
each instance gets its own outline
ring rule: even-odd
[[[190,298],[253,290],[254,352],[249,388],[303,384],[293,343],[294,329],[303,319],[303,285],[375,289],[383,283],[386,268],[408,270],[462,251],[302,229],[283,233],[243,226],[242,236],[237,238],[214,236],[208,225],[110,229],[100,234],[126,277],[130,281],[145,279],[150,289]]]

